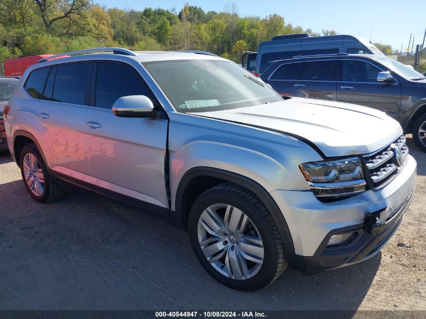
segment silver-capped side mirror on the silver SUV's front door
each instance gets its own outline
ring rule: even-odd
[[[129,95],[117,99],[112,112],[118,117],[158,117],[160,111],[154,109],[152,101],[145,95]]]

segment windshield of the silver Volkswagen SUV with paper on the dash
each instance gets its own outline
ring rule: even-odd
[[[262,80],[231,61],[194,59],[143,64],[180,113],[282,101]]]

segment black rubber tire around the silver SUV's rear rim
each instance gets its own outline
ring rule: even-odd
[[[25,174],[24,174],[24,169],[23,169],[23,162],[24,162],[24,157],[27,154],[32,154],[35,156],[35,158],[37,159],[38,163],[40,164],[41,170],[43,172],[44,175],[44,190],[43,190],[43,194],[41,196],[36,196],[30,189],[30,187],[28,186],[27,182],[25,181]],[[40,154],[40,151],[37,149],[37,146],[35,146],[35,144],[27,144],[24,146],[24,148],[21,151],[21,156],[19,159],[19,167],[21,168],[21,175],[22,175],[22,179],[25,185],[25,188],[27,189],[28,194],[30,194],[30,196],[36,200],[39,203],[49,203],[49,202],[53,202],[56,201],[58,199],[60,199],[61,197],[64,196],[64,188],[59,186],[58,184],[56,184],[50,174],[49,171],[46,167],[46,164],[44,163],[43,157]]]

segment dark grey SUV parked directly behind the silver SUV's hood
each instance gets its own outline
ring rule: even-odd
[[[426,152],[426,77],[394,59],[373,54],[285,58],[261,78],[281,95],[384,111]]]

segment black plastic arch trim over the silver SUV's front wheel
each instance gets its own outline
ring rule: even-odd
[[[242,187],[247,188],[252,193],[254,193],[259,200],[265,205],[266,209],[269,211],[271,216],[274,218],[278,231],[281,235],[284,252],[287,259],[287,263],[290,268],[297,270],[297,263],[295,258],[294,244],[291,237],[290,230],[288,228],[287,222],[283,214],[281,213],[277,203],[274,201],[272,196],[267,192],[267,190],[260,185],[258,182],[254,181],[251,178],[242,176],[237,173],[230,171],[222,170],[219,168],[212,167],[193,167],[189,169],[180,179],[179,184],[176,190],[175,197],[175,211],[170,212],[170,219],[173,224],[184,226],[184,217],[185,212],[181,210],[182,208],[182,198],[185,193],[187,186],[190,184],[191,180],[199,176],[209,176],[220,178],[229,182],[233,182]]]

